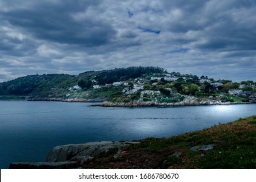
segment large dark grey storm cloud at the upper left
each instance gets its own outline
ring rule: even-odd
[[[76,19],[97,1],[64,1],[57,4],[38,4],[31,9],[18,8],[2,12],[1,16],[14,26],[21,27],[35,38],[59,42],[97,46],[107,44],[115,34],[110,24],[90,15]],[[93,3],[92,3],[93,2]]]

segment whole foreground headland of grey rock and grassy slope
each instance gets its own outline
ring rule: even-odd
[[[255,141],[256,115],[170,138],[56,146],[46,162],[10,168],[255,168]]]

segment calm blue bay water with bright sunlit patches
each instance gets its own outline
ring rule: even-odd
[[[45,161],[51,148],[100,140],[168,137],[256,114],[256,105],[89,107],[93,103],[0,101],[0,168]]]

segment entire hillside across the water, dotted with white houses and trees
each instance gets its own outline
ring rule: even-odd
[[[107,101],[104,106],[255,103],[256,83],[132,66],[79,75],[27,75],[0,83],[0,99]]]

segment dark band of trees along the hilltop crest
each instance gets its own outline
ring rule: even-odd
[[[152,73],[164,73],[163,68],[154,66],[132,66],[128,68],[115,68],[102,72],[95,77],[99,85],[110,84],[115,81],[126,81],[128,79],[135,79],[142,75],[149,75]]]

